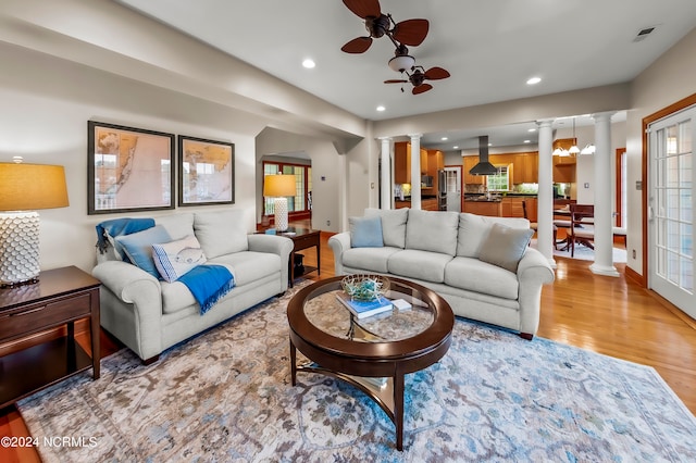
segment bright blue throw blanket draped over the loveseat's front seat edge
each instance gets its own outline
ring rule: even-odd
[[[234,276],[222,265],[198,265],[181,276],[178,281],[191,291],[201,315],[235,287]]]

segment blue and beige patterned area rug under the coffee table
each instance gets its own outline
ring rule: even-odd
[[[102,361],[99,380],[84,374],[22,401],[41,458],[696,461],[696,420],[652,368],[461,320],[447,355],[407,376],[398,452],[394,425],[357,389],[308,373],[290,386],[289,296],[171,349],[157,364],[122,350]],[[44,445],[57,436],[73,440]]]

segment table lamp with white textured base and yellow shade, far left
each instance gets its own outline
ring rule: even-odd
[[[38,280],[39,214],[65,208],[62,165],[0,163],[0,287]]]

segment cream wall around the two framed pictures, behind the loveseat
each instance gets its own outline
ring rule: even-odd
[[[87,121],[235,143],[235,204],[254,216],[254,135],[263,121],[239,111],[0,42],[0,162],[65,166],[70,207],[39,211],[41,268],[96,263],[95,225],[87,215]],[[178,208],[176,212],[219,207]],[[156,216],[172,211],[139,212]],[[120,214],[123,216],[124,214]]]

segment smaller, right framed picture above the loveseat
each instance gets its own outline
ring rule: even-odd
[[[178,205],[234,204],[235,146],[178,136]]]

